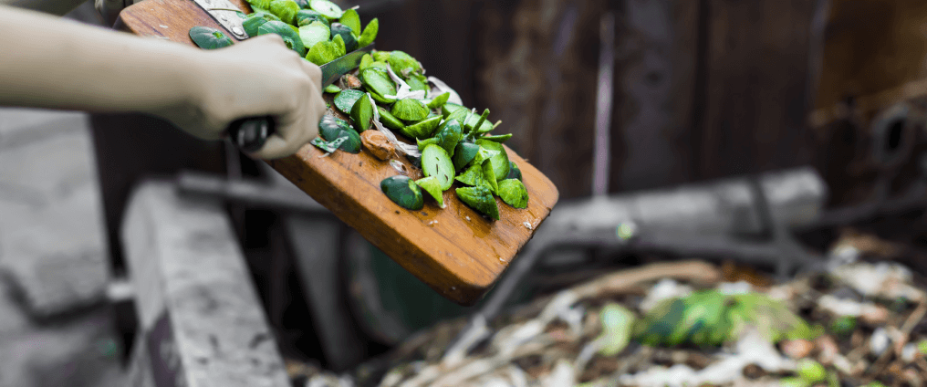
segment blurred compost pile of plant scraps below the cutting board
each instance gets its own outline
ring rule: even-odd
[[[439,324],[391,353],[386,374],[316,373],[307,385],[927,385],[924,281],[881,260],[886,246],[848,235],[827,273],[781,284],[702,261],[623,270],[535,300],[450,350],[465,321]]]

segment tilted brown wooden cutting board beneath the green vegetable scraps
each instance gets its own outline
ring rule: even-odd
[[[247,3],[231,1],[251,12]],[[115,28],[194,45],[187,32],[195,26],[222,30],[191,0],[146,0],[129,6]],[[325,97],[331,102],[331,95]],[[347,119],[334,109],[327,114]],[[504,133],[504,123],[501,129]],[[293,156],[268,163],[415,277],[448,299],[468,305],[492,288],[559,197],[550,179],[511,148],[505,150],[522,171],[529,200],[527,209],[518,210],[497,198],[498,221],[484,218],[459,200],[453,191],[456,184],[444,192],[444,209],[427,194],[421,211],[401,208],[380,190],[380,181],[399,173],[366,149],[356,155],[337,151],[324,156],[321,149],[306,145]],[[398,160],[410,177],[422,177],[404,157]]]

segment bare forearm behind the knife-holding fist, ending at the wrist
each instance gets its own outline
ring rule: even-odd
[[[0,105],[153,113],[196,98],[197,48],[0,6]]]

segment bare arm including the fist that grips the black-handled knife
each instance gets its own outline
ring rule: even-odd
[[[205,139],[273,115],[260,158],[295,152],[324,114],[321,71],[277,35],[205,51],[7,6],[0,19],[0,106],[137,111]]]

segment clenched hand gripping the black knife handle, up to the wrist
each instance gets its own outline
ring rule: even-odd
[[[276,133],[251,157],[278,159],[295,153],[318,134],[325,112],[322,71],[269,33],[229,47],[203,51],[197,81],[185,107],[155,114],[204,139],[219,139],[229,123],[271,115]]]

